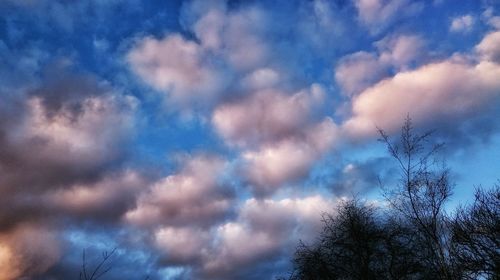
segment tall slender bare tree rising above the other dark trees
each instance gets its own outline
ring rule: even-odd
[[[385,197],[403,218],[414,226],[414,234],[422,245],[422,261],[439,279],[456,279],[450,258],[449,231],[444,204],[452,193],[449,172],[437,151],[442,145],[432,144],[432,132],[418,134],[407,117],[399,141],[392,142],[379,129],[380,141],[396,160],[401,174],[396,188],[385,188]]]

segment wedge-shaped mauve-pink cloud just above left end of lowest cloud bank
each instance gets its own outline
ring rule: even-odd
[[[210,225],[231,207],[231,191],[220,181],[224,167],[224,161],[214,156],[187,158],[179,173],[159,180],[142,194],[125,219],[146,227]]]

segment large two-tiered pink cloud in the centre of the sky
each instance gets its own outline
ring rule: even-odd
[[[243,174],[255,192],[304,177],[332,147],[335,123],[315,116],[324,99],[319,85],[293,95],[266,89],[215,109],[212,123],[228,144],[242,149]]]

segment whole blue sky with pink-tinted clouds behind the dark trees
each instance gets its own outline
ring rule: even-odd
[[[0,0],[0,280],[273,279],[445,143],[451,212],[499,179],[496,0]]]

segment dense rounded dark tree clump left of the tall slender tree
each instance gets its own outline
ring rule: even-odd
[[[344,201],[335,215],[323,216],[324,228],[312,246],[295,253],[291,279],[408,279],[421,270],[413,258],[408,227],[376,214],[377,208]]]

